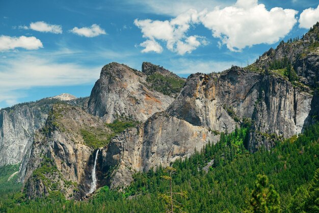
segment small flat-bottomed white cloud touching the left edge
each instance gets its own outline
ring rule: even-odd
[[[0,36],[0,51],[12,50],[15,48],[38,49],[43,47],[42,42],[36,37],[10,37]]]

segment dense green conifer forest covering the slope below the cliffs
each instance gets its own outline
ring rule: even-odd
[[[253,154],[243,145],[248,129],[236,128],[231,134],[221,133],[216,145],[207,144],[190,158],[171,165],[176,170],[172,173],[172,191],[184,195],[174,196],[174,200],[183,211],[251,211],[252,191],[256,188],[258,174],[267,175],[273,185],[270,189],[279,194],[280,204],[274,209],[283,212],[296,212],[296,206],[304,209],[303,203],[308,201],[298,203],[296,200],[300,200],[298,196],[305,190],[308,194],[315,191],[316,185],[308,186],[313,185],[311,180],[319,168],[319,124],[311,126],[298,138],[277,141],[270,151],[261,149]],[[205,167],[209,163],[212,166]],[[168,207],[161,195],[169,192],[169,180],[163,178],[168,175],[162,167],[136,173],[134,182],[124,193],[103,187],[87,201],[67,201],[62,195],[26,200],[18,194],[1,200],[0,211],[164,212]]]

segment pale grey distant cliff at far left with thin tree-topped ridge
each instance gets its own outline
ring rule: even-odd
[[[44,98],[35,102],[20,103],[0,111],[0,167],[19,164],[32,146],[34,132],[47,119],[51,105],[65,102],[84,107],[87,98],[70,101]]]

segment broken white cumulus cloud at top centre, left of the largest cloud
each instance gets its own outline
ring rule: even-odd
[[[189,10],[171,20],[135,19],[134,24],[141,29],[143,37],[148,39],[140,44],[145,47],[142,52],[155,50],[157,50],[155,52],[162,52],[158,51],[159,48],[154,49],[154,44],[159,47],[156,40],[165,42],[169,50],[179,55],[192,52],[198,46],[207,44],[204,37],[186,35],[191,25],[198,23],[199,15],[196,10]]]

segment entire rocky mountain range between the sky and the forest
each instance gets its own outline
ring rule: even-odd
[[[97,188],[125,191],[137,172],[187,159],[240,127],[246,150],[271,150],[318,120],[318,35],[319,24],[247,67],[187,79],[149,62],[141,71],[107,64],[88,98],[62,94],[2,109],[0,166],[21,163],[29,198],[60,191],[79,200],[93,168]]]

